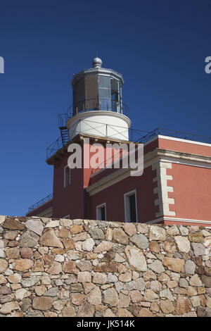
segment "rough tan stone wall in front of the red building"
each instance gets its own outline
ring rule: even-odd
[[[0,216],[0,316],[211,316],[211,228]]]

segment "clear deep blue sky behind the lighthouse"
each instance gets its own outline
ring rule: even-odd
[[[0,215],[52,192],[46,147],[96,49],[124,77],[132,127],[211,135],[210,31],[210,0],[1,1]]]

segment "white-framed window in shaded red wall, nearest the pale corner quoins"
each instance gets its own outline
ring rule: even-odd
[[[125,222],[137,222],[136,190],[124,194]]]

